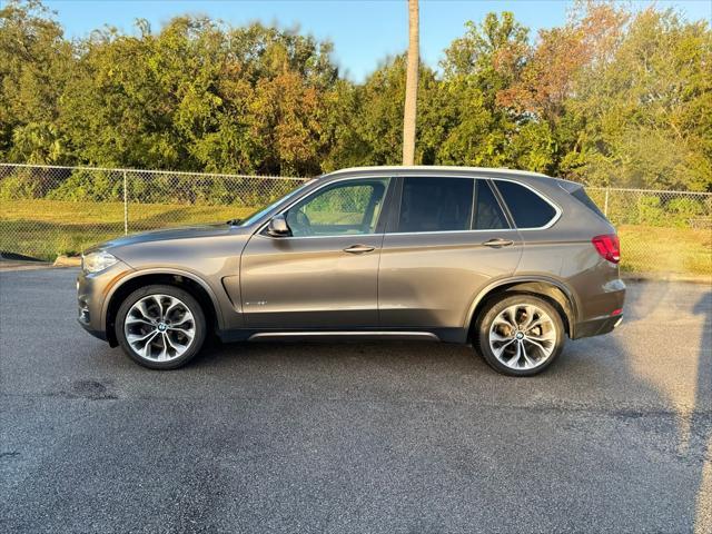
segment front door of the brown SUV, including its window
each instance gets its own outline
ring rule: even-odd
[[[256,233],[241,257],[249,328],[352,329],[378,324],[380,215],[389,179],[344,179],[283,215],[290,234]]]

